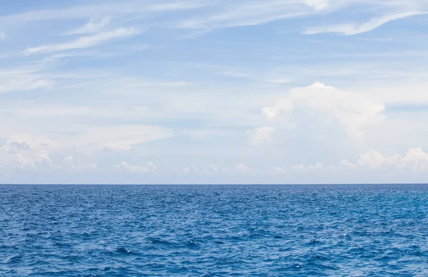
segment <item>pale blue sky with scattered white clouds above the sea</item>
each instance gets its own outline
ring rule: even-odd
[[[426,183],[428,1],[0,0],[0,183]]]

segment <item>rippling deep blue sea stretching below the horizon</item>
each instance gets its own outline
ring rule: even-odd
[[[0,186],[0,276],[428,276],[427,185]]]

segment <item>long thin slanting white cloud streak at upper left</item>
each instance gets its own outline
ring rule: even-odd
[[[112,39],[124,39],[139,34],[140,31],[133,28],[119,28],[113,31],[106,31],[93,36],[81,36],[80,38],[61,44],[48,44],[44,46],[31,47],[24,51],[25,54],[49,53],[56,51],[65,51],[71,49],[84,49],[98,44],[102,44]]]

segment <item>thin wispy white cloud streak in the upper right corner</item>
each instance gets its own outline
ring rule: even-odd
[[[352,36],[355,34],[365,33],[367,31],[372,31],[377,29],[379,26],[383,24],[387,24],[389,21],[394,21],[397,19],[404,19],[409,16],[414,16],[418,14],[425,14],[425,12],[417,11],[417,12],[404,12],[400,14],[390,14],[387,16],[380,16],[374,19],[370,19],[362,24],[338,24],[332,26],[317,26],[311,29],[307,29],[303,32],[303,34],[320,34],[320,33],[338,33],[346,36]]]

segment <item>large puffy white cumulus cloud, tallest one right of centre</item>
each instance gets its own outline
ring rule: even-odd
[[[317,126],[328,126],[337,121],[345,128],[348,136],[362,139],[365,127],[384,119],[384,109],[382,103],[365,94],[342,91],[315,82],[310,86],[292,89],[275,106],[265,106],[261,112],[267,121],[276,122],[275,126],[285,126],[287,129],[299,124],[312,124],[311,121]],[[265,129],[262,134],[267,131]]]

